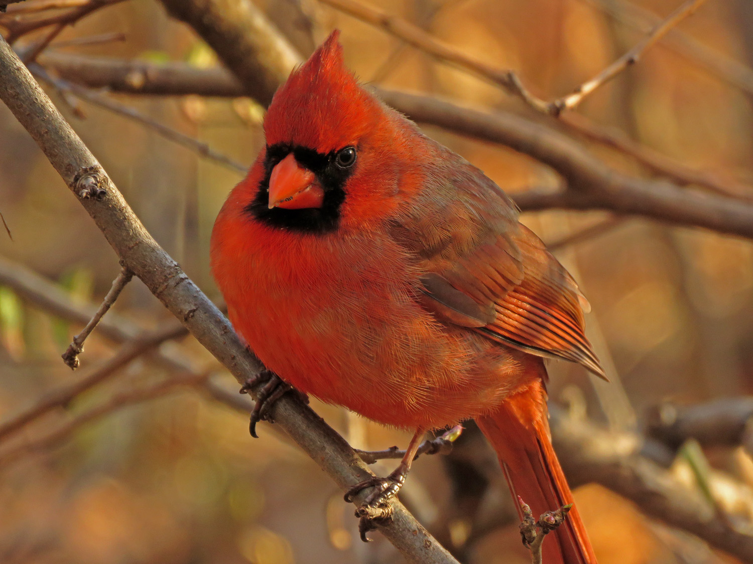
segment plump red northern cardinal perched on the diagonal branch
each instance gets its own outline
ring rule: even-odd
[[[335,31],[276,92],[266,147],[212,232],[230,321],[300,392],[415,432],[474,418],[534,514],[572,503],[542,357],[603,376],[588,302],[508,196],[358,84]],[[355,491],[355,490],[354,490]],[[578,516],[544,562],[596,562]]]

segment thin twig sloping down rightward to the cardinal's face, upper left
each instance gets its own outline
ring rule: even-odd
[[[185,135],[184,133],[176,131],[175,129],[164,125],[163,123],[152,120],[151,118],[146,117],[144,114],[141,114],[139,111],[136,111],[130,106],[115,102],[114,100],[111,100],[106,96],[102,96],[97,92],[92,92],[90,89],[84,88],[84,86],[79,86],[78,84],[70,83],[67,80],[53,77],[38,64],[29,65],[29,70],[31,70],[32,73],[34,73],[45,82],[55,86],[61,92],[71,92],[75,96],[78,96],[79,98],[84,99],[91,104],[97,105],[100,108],[105,108],[106,110],[111,111],[114,114],[118,114],[120,116],[127,117],[130,120],[141,123],[143,126],[147,126],[148,128],[153,129],[163,138],[166,138],[169,141],[173,141],[174,143],[177,143],[182,147],[186,147],[187,149],[190,149],[200,154],[201,156],[206,157],[207,159],[218,162],[235,172],[245,174],[245,172],[248,170],[247,166],[233,161],[233,159],[230,159],[222,153],[218,153],[203,141],[199,141],[198,139],[193,138],[190,135]]]

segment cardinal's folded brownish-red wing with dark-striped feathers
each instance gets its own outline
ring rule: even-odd
[[[395,223],[393,238],[425,272],[419,301],[444,323],[537,356],[580,362],[604,378],[584,334],[590,306],[575,280],[518,222],[507,196],[484,184],[425,193]]]

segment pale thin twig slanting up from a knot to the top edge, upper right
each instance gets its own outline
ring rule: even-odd
[[[703,5],[706,0],[688,0],[684,4],[680,5],[672,14],[669,14],[662,23],[658,24],[651,32],[645,36],[633,49],[625,53],[619,59],[608,65],[603,71],[596,74],[591,80],[587,80],[581,86],[578,86],[572,94],[562,96],[556,99],[554,102],[550,102],[550,113],[557,116],[562,111],[572,110],[591,92],[607,83],[624,71],[630,65],[634,65],[638,62],[638,59],[642,56],[645,50],[657,43],[664,35],[669,32],[670,29],[677,26],[686,17],[691,16]]]

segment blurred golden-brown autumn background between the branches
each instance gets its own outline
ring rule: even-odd
[[[379,7],[469,56],[516,69],[537,96],[553,99],[633,47],[645,31],[645,11],[665,17],[678,4],[380,0]],[[41,2],[8,6],[0,17],[4,35],[11,20],[58,13],[23,11],[25,5]],[[314,0],[258,0],[256,5],[304,56],[332,29],[341,29],[346,62],[364,82],[531,117],[521,102],[489,83]],[[743,70],[753,65],[753,4],[747,0],[707,2],[679,29],[722,60]],[[24,35],[16,47],[45,33]],[[668,39],[648,50],[578,112],[736,186],[741,199],[753,198],[753,190],[745,192],[753,182],[753,90],[724,80],[673,45]],[[64,29],[47,53],[181,61],[201,68],[219,64],[191,29],[151,0],[96,11]],[[39,60],[44,65],[44,54]],[[212,299],[220,299],[209,273],[209,234],[241,173],[143,123],[76,102],[66,92],[48,92],[154,238]],[[263,109],[250,99],[107,96],[242,165],[250,164],[264,144]],[[506,147],[436,127],[425,131],[511,193],[559,183],[550,168]],[[614,168],[647,174],[617,151],[599,144],[589,149]],[[12,235],[0,231],[0,256],[3,264],[8,261],[4,269],[29,268],[76,307],[102,300],[120,269],[117,258],[5,106],[0,107],[0,211]],[[552,402],[585,411],[606,429],[642,432],[647,414],[665,402],[694,405],[753,393],[751,241],[637,217],[612,220],[606,212],[543,211],[524,214],[523,223],[556,244],[556,256],[590,300],[589,335],[612,379],[594,384],[580,366],[551,362]],[[605,229],[569,241],[569,235],[602,223]],[[169,320],[138,280],[113,311],[142,329]],[[114,340],[95,330],[81,368],[72,373],[60,354],[80,329],[13,284],[0,286],[0,421],[13,420],[52,390],[85,378],[117,351]],[[163,347],[235,392],[230,375],[222,374],[193,339]],[[135,390],[174,378],[173,372],[142,356],[38,420],[8,436],[0,433],[0,561],[401,562],[378,533],[371,534],[376,541],[369,545],[358,541],[352,505],[273,426],[261,424],[261,438],[253,440],[245,414],[193,385],[172,387],[156,398],[134,397]],[[102,406],[101,413],[88,415]],[[312,406],[354,447],[407,444],[409,436],[402,432],[315,400]],[[453,459],[419,459],[401,498],[458,549],[462,561],[528,562],[495,462],[472,432],[462,441]],[[697,456],[715,468],[707,478],[709,472],[723,475],[736,491],[746,492],[739,496],[751,496],[753,461],[745,449],[706,448],[705,456]],[[375,472],[385,474],[393,465],[380,463]],[[459,473],[461,467],[470,474]],[[687,462],[675,460],[670,472],[688,488],[699,487]],[[465,486],[475,488],[480,506],[494,508],[496,517],[487,519],[485,528],[453,517],[462,494],[459,475],[471,475]],[[602,564],[734,561],[689,533],[645,517],[633,502],[604,487],[584,484],[575,499]],[[734,526],[749,530],[753,504],[733,502],[727,511]]]

